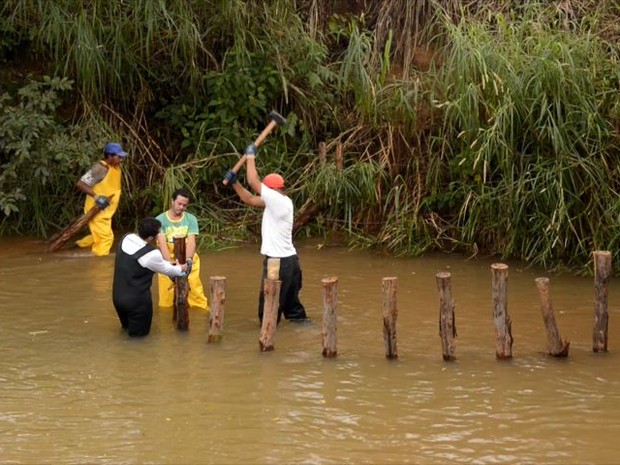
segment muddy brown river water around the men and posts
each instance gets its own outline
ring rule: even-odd
[[[491,260],[390,258],[299,243],[313,322],[280,324],[261,353],[256,246],[202,257],[226,277],[223,339],[208,314],[179,332],[155,308],[129,340],[111,301],[113,256],[2,239],[2,464],[617,464],[620,281],[609,352],[592,352],[594,281],[508,263],[512,360],[496,360]],[[458,330],[444,362],[435,274],[452,274]],[[338,277],[338,356],[322,357],[321,279]],[[398,278],[398,360],[387,360],[381,279]],[[551,279],[566,359],[545,354],[534,283]],[[154,285],[155,286],[155,285]],[[154,288],[155,291],[155,288]]]

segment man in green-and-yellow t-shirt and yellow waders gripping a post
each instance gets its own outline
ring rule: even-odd
[[[177,189],[172,193],[172,204],[168,211],[161,213],[157,219],[161,222],[161,233],[157,238],[159,250],[164,259],[174,261],[174,238],[185,237],[186,262],[191,271],[187,278],[189,294],[187,303],[190,307],[208,310],[209,304],[205,297],[200,280],[200,257],[196,253],[196,236],[198,236],[198,220],[186,212],[191,194],[186,189]],[[166,275],[157,275],[159,288],[159,306],[174,306],[174,284]]]

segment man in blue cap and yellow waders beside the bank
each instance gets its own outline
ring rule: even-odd
[[[77,182],[77,188],[87,195],[84,213],[95,205],[101,208],[88,223],[90,234],[76,242],[80,247],[91,247],[95,256],[108,255],[114,242],[112,217],[121,198],[121,163],[126,156],[121,144],[107,143],[103,160],[95,163]]]

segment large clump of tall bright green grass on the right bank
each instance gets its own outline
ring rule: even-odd
[[[452,143],[431,170],[448,160],[459,240],[547,266],[583,262],[617,235],[604,223],[618,201],[615,58],[585,22],[527,13],[445,21],[438,135]]]

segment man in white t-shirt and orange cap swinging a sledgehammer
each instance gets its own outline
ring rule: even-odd
[[[284,318],[294,322],[309,321],[306,310],[299,300],[302,286],[301,267],[297,251],[293,245],[293,202],[284,193],[284,178],[276,173],[265,176],[261,181],[256,170],[256,146],[251,144],[245,151],[247,181],[258,194],[253,195],[237,182],[237,176],[229,170],[225,179],[232,185],[235,192],[247,205],[264,208],[261,226],[261,254],[263,259],[263,275],[261,278],[258,299],[258,319],[263,320],[265,294],[263,282],[267,277],[267,259],[280,259],[280,306],[278,322]]]

